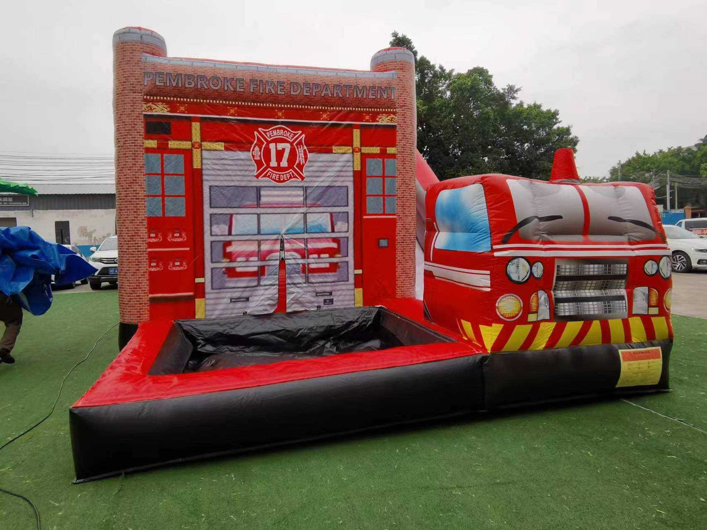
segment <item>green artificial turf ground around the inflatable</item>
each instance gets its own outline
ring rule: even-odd
[[[0,364],[0,444],[45,415],[118,321],[117,292],[57,294]],[[707,321],[674,317],[671,393],[389,430],[71,485],[68,409],[117,354],[117,328],[44,424],[0,451],[0,487],[45,529],[707,528]],[[0,494],[0,528],[34,528]]]

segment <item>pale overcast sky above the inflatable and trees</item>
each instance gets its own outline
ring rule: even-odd
[[[112,33],[155,30],[171,57],[368,69],[405,33],[448,69],[559,110],[580,175],[707,134],[707,2],[33,1],[4,4],[0,151],[112,154]]]

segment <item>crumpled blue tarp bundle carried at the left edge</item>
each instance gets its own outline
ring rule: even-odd
[[[0,291],[33,315],[52,305],[52,276],[63,285],[94,272],[74,251],[45,241],[27,226],[0,229]]]

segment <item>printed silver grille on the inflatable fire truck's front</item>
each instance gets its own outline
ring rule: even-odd
[[[625,260],[556,261],[552,289],[557,320],[626,318]]]

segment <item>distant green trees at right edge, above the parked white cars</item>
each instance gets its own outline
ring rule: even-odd
[[[689,147],[668,147],[651,154],[636,151],[630,159],[617,163],[609,170],[609,180],[650,183],[655,178],[664,186],[669,171],[673,175],[671,183],[678,185],[679,207],[691,204],[693,207],[707,208],[707,178],[704,183],[705,188],[694,188],[700,185],[700,180],[697,179],[691,179],[691,188],[681,188],[679,178],[680,175],[707,177],[707,136]],[[660,195],[665,199],[663,190],[665,188],[662,187],[656,190],[658,202],[660,202]],[[674,199],[671,200],[670,207],[674,207]]]

